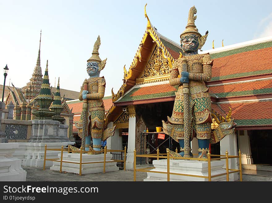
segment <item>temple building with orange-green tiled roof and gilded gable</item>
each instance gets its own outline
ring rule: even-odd
[[[146,15],[147,17],[147,15]],[[181,46],[161,35],[147,17],[144,32],[135,57],[124,67],[123,85],[112,97],[104,97],[105,128],[116,125],[115,135],[107,146],[123,149],[127,146],[127,167],[132,167],[133,150],[137,153],[171,150],[178,144],[164,142],[153,136],[141,136],[143,130],[155,132],[162,120],[171,116],[177,86],[169,85],[169,63],[178,59]],[[235,131],[219,143],[211,144],[212,154],[236,156],[241,150],[243,168],[254,164],[271,165],[272,156],[272,37],[223,46],[202,53],[213,59],[212,78],[206,85],[212,101],[212,129],[234,118]],[[74,121],[82,111],[82,101],[67,101],[73,108]],[[73,125],[73,134],[77,129]],[[171,138],[170,138],[171,139]],[[164,142],[164,143],[163,143]],[[144,143],[144,145],[142,145]],[[148,143],[146,145],[146,143]],[[198,143],[194,140],[191,145]],[[194,153],[194,152],[193,152]],[[237,163],[233,163],[234,165]]]

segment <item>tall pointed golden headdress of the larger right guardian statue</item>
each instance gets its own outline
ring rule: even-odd
[[[197,16],[195,15],[197,13],[197,9],[193,6],[189,10],[189,16],[188,16],[188,23],[185,27],[185,30],[183,33],[181,33],[180,38],[182,38],[185,35],[189,34],[195,34],[196,36],[199,37],[199,46],[198,49],[201,49],[202,46],[205,44],[207,36],[208,36],[208,31],[206,31],[205,35],[201,35],[198,32],[198,29],[196,25],[194,24],[194,21],[197,19]]]

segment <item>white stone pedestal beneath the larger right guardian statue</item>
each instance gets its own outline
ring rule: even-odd
[[[167,160],[154,160],[153,165],[155,169],[151,171],[167,172]],[[211,161],[211,175],[226,173],[225,169],[222,169],[224,165],[223,161],[215,160]],[[185,160],[170,160],[170,172],[180,174],[191,174],[208,176],[208,162],[207,161],[185,161]],[[226,175],[212,178],[211,181],[226,181]],[[151,173],[147,172],[147,178],[143,181],[167,181],[167,174]],[[198,178],[184,175],[170,174],[170,181],[208,181],[208,178]]]

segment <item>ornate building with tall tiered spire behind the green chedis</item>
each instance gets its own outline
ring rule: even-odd
[[[40,40],[41,42],[41,40]],[[36,96],[40,93],[42,81],[43,81],[42,70],[40,66],[40,46],[38,51],[38,57],[36,61],[36,66],[32,73],[32,77],[26,86],[22,88],[15,87],[12,84],[13,88],[6,86],[8,89],[8,93],[6,95],[5,104],[6,108],[9,109],[9,119],[15,120],[34,120],[35,116],[32,114],[33,111],[38,109],[38,104],[34,100]],[[65,120],[62,122],[65,125],[68,125],[68,137],[72,136],[72,124],[73,124],[73,116],[72,109],[66,104],[67,100],[78,98],[79,92],[59,89],[56,87],[50,87],[52,98],[56,92],[62,95],[61,104],[62,104],[62,112],[60,113],[61,117],[64,117]],[[59,84],[58,84],[59,88]]]

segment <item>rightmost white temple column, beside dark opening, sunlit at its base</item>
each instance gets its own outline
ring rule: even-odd
[[[253,164],[250,140],[247,130],[238,130],[238,146],[241,151],[241,163]]]

